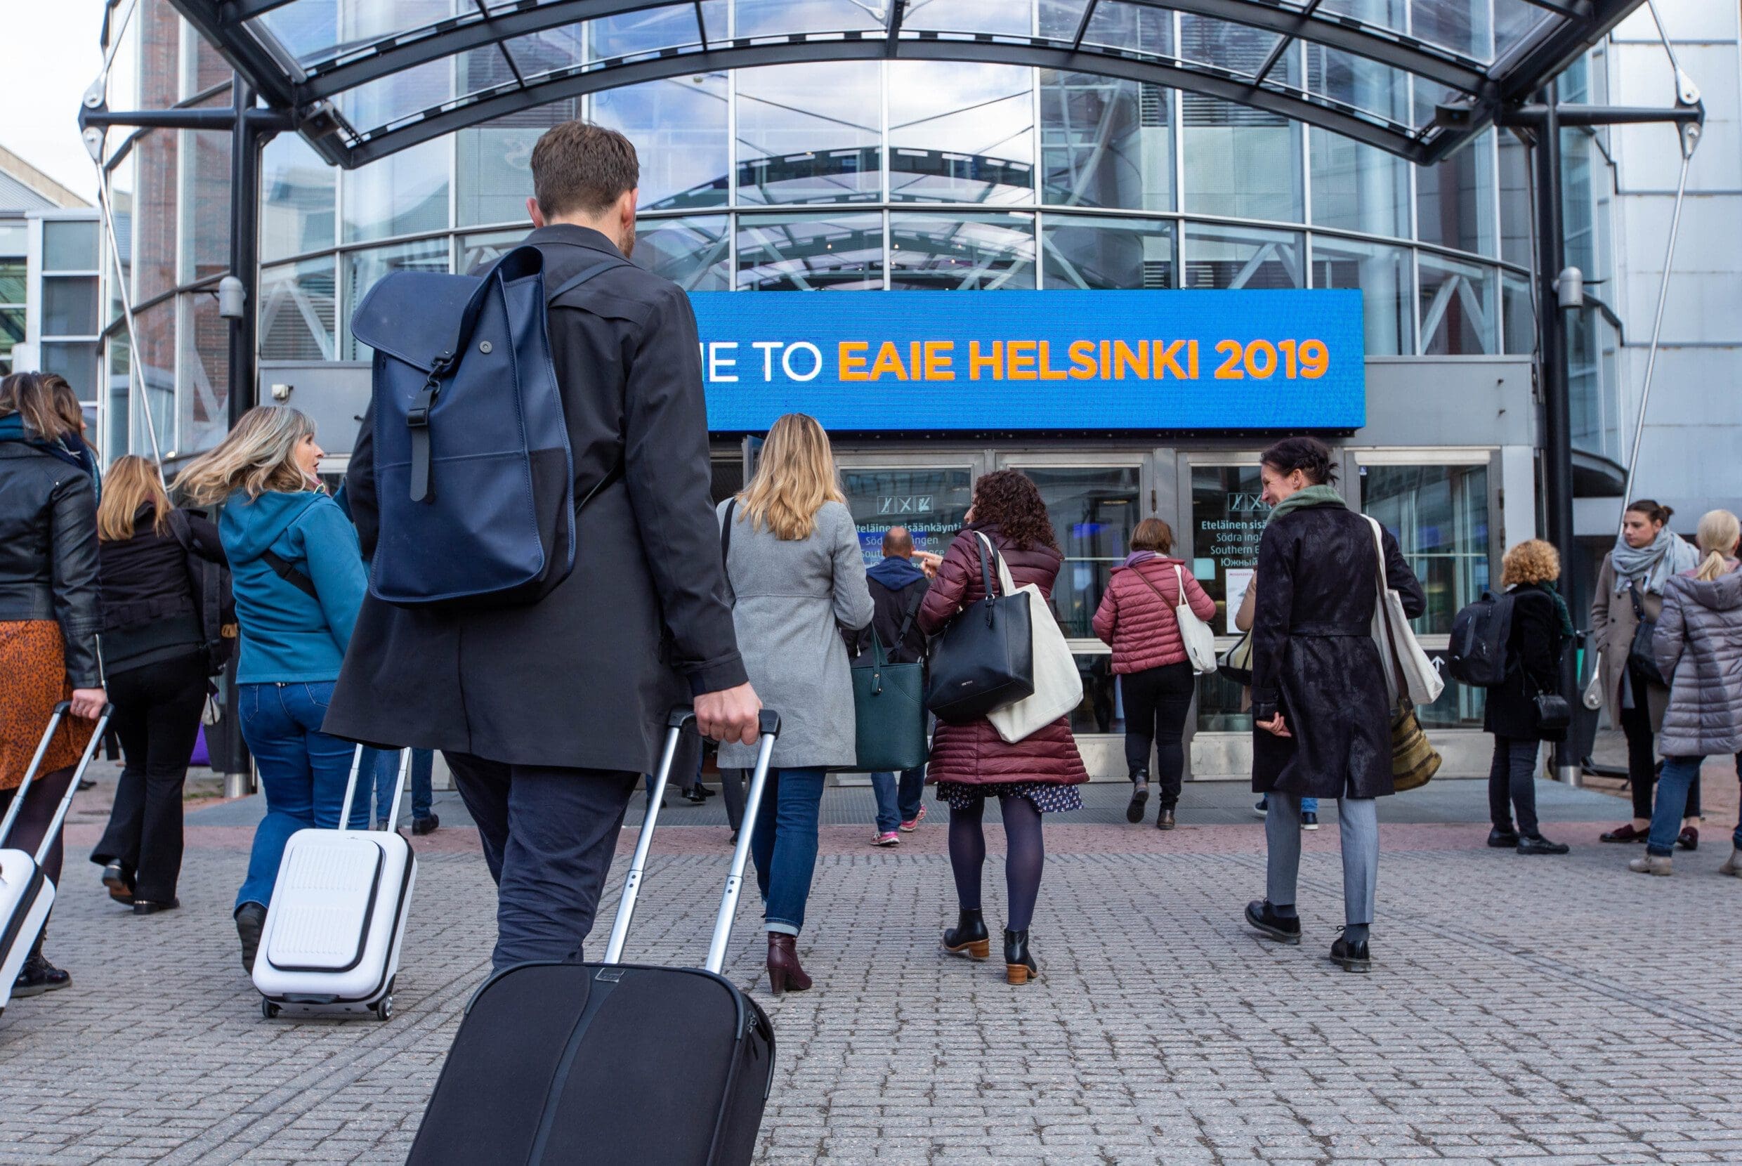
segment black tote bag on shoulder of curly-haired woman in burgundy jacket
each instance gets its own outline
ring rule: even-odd
[[[1035,695],[1035,640],[1026,593],[1000,596],[986,547],[974,540],[986,598],[956,614],[932,641],[932,675],[925,708],[937,720],[960,725]]]

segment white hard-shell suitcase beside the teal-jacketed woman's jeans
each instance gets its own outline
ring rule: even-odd
[[[399,751],[399,783],[387,830],[348,830],[362,746],[352,755],[338,830],[298,830],[284,844],[279,882],[254,957],[260,1011],[345,1016],[394,1014],[394,976],[406,938],[416,856],[399,821],[411,749]]]

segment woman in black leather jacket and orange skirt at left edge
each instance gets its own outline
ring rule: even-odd
[[[12,807],[54,706],[73,702],[24,793],[5,845],[42,845],[73,779],[91,725],[108,702],[98,662],[96,458],[56,408],[59,376],[14,373],[0,382],[0,816]],[[59,885],[63,845],[44,873]],[[37,936],[12,986],[42,995],[73,980],[42,955]]]

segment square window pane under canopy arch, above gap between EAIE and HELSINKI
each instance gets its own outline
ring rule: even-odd
[[[1033,70],[892,61],[888,152],[895,202],[1033,202]]]

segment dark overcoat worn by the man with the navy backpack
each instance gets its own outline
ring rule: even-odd
[[[554,286],[617,247],[596,230],[528,235]],[[636,267],[550,305],[550,349],[575,497],[575,570],[544,600],[486,612],[409,612],[369,596],[326,732],[517,765],[648,772],[665,713],[746,680],[709,493],[695,315],[683,289]],[[378,533],[373,408],[345,476],[364,556]],[[685,683],[688,681],[688,683]]]

